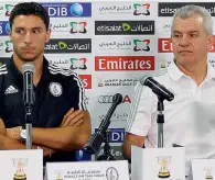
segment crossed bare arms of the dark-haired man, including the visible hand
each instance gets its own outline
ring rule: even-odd
[[[7,128],[7,136],[20,139],[20,126]],[[32,142],[40,147],[54,150],[82,149],[90,135],[90,117],[88,112],[71,109],[62,121],[60,127],[33,127]]]

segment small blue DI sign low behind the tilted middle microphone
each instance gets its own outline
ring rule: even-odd
[[[95,128],[97,132],[98,128]],[[125,128],[108,128],[108,142],[109,143],[122,143],[125,137]]]

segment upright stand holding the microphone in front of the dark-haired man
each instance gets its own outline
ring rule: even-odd
[[[32,106],[25,106],[26,149],[32,148]]]

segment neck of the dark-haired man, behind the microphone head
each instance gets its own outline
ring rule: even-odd
[[[13,61],[18,70],[22,74],[22,66],[28,63],[21,60],[17,54],[13,54]],[[34,65],[35,67],[35,72],[33,75],[33,83],[36,86],[41,79],[42,71],[43,71],[43,55],[39,56],[34,61],[29,61]]]

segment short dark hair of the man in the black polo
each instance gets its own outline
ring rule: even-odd
[[[10,29],[12,29],[13,20],[18,15],[36,15],[43,20],[46,31],[50,26],[50,16],[47,11],[40,3],[21,2],[14,5],[9,18]]]

